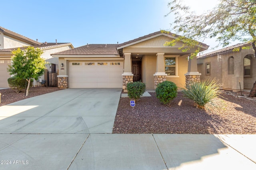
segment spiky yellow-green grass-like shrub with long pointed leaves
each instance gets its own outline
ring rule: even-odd
[[[220,96],[222,84],[218,84],[218,80],[206,79],[201,82],[195,82],[191,86],[182,90],[182,93],[193,100],[197,107],[205,108],[207,103],[214,104],[214,98]]]

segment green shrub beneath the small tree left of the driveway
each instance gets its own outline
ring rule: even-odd
[[[18,78],[18,77],[10,77],[8,78],[8,84],[10,88],[12,88],[16,93],[21,92],[25,89],[25,86],[28,86],[28,82],[26,82],[26,79]],[[32,86],[33,80],[30,81],[30,86]]]

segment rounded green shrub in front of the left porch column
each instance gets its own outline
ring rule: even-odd
[[[140,98],[140,96],[143,95],[143,93],[146,90],[146,84],[139,82],[131,82],[127,84],[127,90],[128,90],[128,97],[132,98],[137,101],[137,99]]]

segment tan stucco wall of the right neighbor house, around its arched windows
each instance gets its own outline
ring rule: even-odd
[[[223,88],[229,89],[240,89],[241,88],[251,89],[256,80],[256,59],[252,58],[252,77],[244,78],[244,57],[248,54],[253,54],[252,49],[241,49],[240,52],[228,52],[222,53],[212,57],[204,59],[198,59],[198,71],[202,73],[201,78],[216,78],[220,83],[223,83]],[[234,74],[228,74],[228,58],[234,57]],[[206,63],[210,62],[210,75],[205,75]]]

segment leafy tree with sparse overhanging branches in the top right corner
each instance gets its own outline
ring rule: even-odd
[[[165,45],[173,46],[181,41],[184,44],[181,49],[187,51],[190,47],[198,45],[196,41],[204,42],[206,38],[216,38],[216,47],[226,47],[230,42],[238,40],[250,43],[249,48],[254,49],[254,57],[256,56],[255,0],[220,0],[216,7],[203,14],[191,11],[182,0],[171,0],[168,7],[170,12],[167,15],[175,16],[172,29],[182,36],[166,42]],[[246,48],[248,47],[242,47]],[[190,57],[195,57],[199,51],[200,46]],[[234,51],[239,51],[239,48]],[[256,89],[256,82],[254,86]],[[252,90],[250,96],[252,94],[255,96],[256,91]]]

